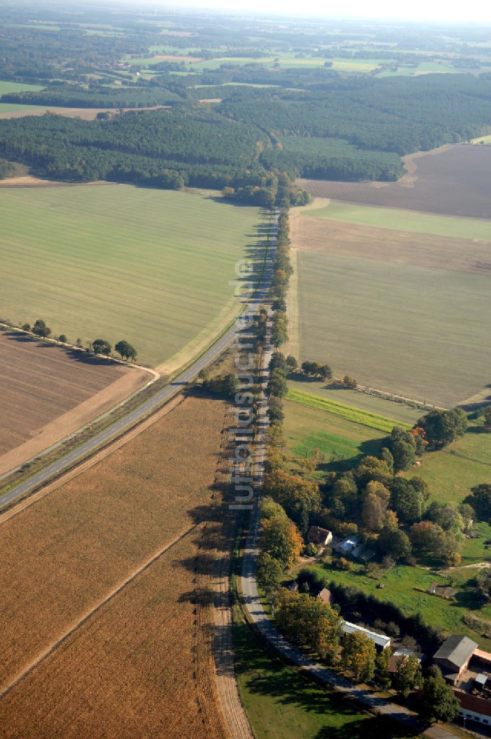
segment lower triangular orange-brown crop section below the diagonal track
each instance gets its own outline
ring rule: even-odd
[[[198,556],[193,531],[4,696],[2,736],[226,738],[213,673],[193,677]]]

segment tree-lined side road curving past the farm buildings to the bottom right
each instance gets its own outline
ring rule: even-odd
[[[264,460],[266,457],[266,434],[267,426],[269,423],[266,410],[267,401],[264,395],[264,389],[267,384],[267,378],[269,375],[268,364],[272,355],[272,348],[268,347],[264,352],[262,378],[261,378],[261,399],[258,403],[258,432],[256,435],[256,449],[255,449],[255,507],[250,522],[250,530],[247,537],[246,548],[244,551],[244,560],[242,565],[242,577],[241,586],[242,594],[244,596],[244,607],[247,609],[247,613],[250,616],[250,620],[253,621],[255,627],[266,638],[275,650],[281,655],[286,657],[289,661],[292,661],[298,667],[303,668],[312,677],[315,677],[317,681],[322,681],[329,687],[333,687],[345,695],[351,698],[355,698],[361,704],[368,706],[374,712],[389,716],[400,723],[408,726],[411,731],[416,730],[422,733],[425,737],[431,739],[455,739],[450,729],[443,726],[431,726],[430,729],[425,729],[419,718],[413,712],[404,708],[403,706],[397,706],[391,704],[383,698],[378,698],[376,695],[371,693],[369,690],[358,687],[350,683],[345,678],[340,677],[332,670],[327,669],[322,664],[310,659],[304,655],[300,650],[296,649],[286,641],[283,636],[276,630],[264,611],[261,600],[258,596],[258,586],[255,580],[255,560],[259,554],[258,550],[258,516],[259,516],[259,494],[263,474],[264,474]]]

